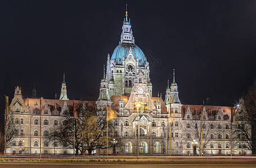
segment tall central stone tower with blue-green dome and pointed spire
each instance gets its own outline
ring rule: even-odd
[[[122,34],[119,45],[113,54],[107,57],[106,80],[110,84],[110,96],[131,94],[134,78],[139,69],[143,72],[143,78],[148,84],[150,96],[152,96],[152,83],[149,78],[149,63],[145,54],[134,43],[131,21],[128,20],[128,12],[125,12]]]

